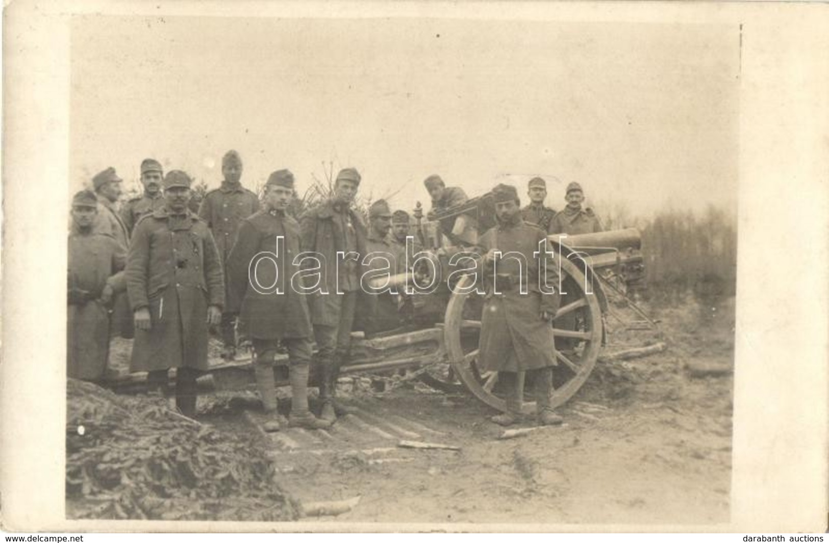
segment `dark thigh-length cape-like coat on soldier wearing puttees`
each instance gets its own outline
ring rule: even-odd
[[[269,252],[269,259],[255,260],[261,252]],[[241,308],[231,309],[240,310],[240,322],[244,322],[249,337],[312,337],[308,302],[291,284],[293,274],[300,269],[293,264],[299,252],[299,223],[292,216],[281,211],[258,211],[241,221],[227,260],[227,284],[235,292],[228,298],[241,300]],[[255,262],[257,288],[250,284],[251,261]],[[277,287],[281,293],[275,292]]]

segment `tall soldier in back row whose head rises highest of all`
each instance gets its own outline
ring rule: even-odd
[[[207,222],[219,248],[219,257],[226,272],[227,255],[236,239],[236,231],[242,219],[259,211],[259,196],[242,187],[242,159],[239,153],[230,150],[221,159],[221,186],[208,192],[201,201],[199,216]],[[226,274],[225,274],[226,276]],[[227,291],[230,293],[230,291]],[[221,340],[225,344],[222,357],[233,360],[236,356],[235,318],[229,308],[238,307],[238,301],[227,301],[225,313],[221,316]]]

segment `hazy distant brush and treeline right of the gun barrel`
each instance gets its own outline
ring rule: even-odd
[[[666,210],[633,219],[619,206],[597,210],[608,230],[635,226],[642,232],[646,298],[675,302],[688,293],[702,300],[734,296],[737,225],[733,213]]]

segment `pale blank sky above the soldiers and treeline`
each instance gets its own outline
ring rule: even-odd
[[[235,148],[249,187],[332,160],[395,208],[428,208],[431,173],[541,175],[555,208],[571,181],[637,214],[736,201],[736,27],[92,16],[71,44],[73,191],[146,157],[217,187]]]

